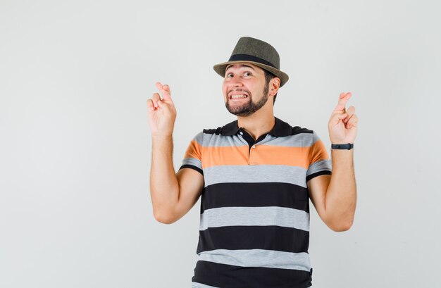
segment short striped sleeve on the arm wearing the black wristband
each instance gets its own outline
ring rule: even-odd
[[[325,144],[323,144],[316,132],[313,132],[309,158],[310,161],[309,168],[306,171],[306,182],[319,175],[331,174],[333,169],[328,150],[326,150]]]

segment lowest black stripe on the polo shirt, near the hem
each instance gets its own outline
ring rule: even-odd
[[[241,267],[197,261],[193,282],[229,288],[306,288],[312,285],[309,271],[264,267]]]

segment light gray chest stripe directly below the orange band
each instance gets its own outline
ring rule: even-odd
[[[205,187],[217,183],[282,182],[306,188],[306,169],[288,165],[221,165],[204,168]]]

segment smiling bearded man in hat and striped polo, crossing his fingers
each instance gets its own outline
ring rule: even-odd
[[[156,83],[163,99],[155,93],[147,100],[154,217],[174,223],[201,196],[194,288],[309,287],[309,199],[334,231],[348,230],[354,220],[358,118],[353,106],[345,109],[351,93],[340,94],[330,116],[331,163],[315,132],[273,114],[288,80],[273,46],[242,37],[230,60],[214,70],[237,120],[199,132],[176,174],[170,88]]]

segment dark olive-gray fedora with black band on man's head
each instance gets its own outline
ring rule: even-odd
[[[280,87],[289,79],[286,73],[280,71],[280,57],[278,52],[273,46],[262,40],[251,37],[241,37],[239,41],[237,41],[228,62],[214,65],[213,69],[216,73],[225,77],[225,68],[232,63],[239,62],[248,62],[273,73],[280,78]]]

